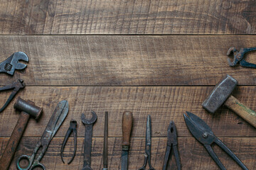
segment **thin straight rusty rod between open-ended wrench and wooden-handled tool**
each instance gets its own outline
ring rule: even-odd
[[[107,170],[107,156],[108,156],[108,146],[107,146],[107,137],[108,137],[108,112],[105,112],[105,129],[104,129],[104,145],[103,145],[103,169]]]

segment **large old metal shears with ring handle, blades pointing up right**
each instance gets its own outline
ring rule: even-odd
[[[35,149],[33,150],[33,154],[29,157],[26,154],[21,155],[18,157],[17,160],[17,169],[19,170],[28,170],[34,169],[36,167],[40,167],[43,170],[46,170],[46,166],[40,163],[43,155],[46,153],[46,150],[50,144],[50,141],[53,139],[55,133],[60,128],[60,125],[65,120],[65,117],[68,115],[68,101],[60,101],[56,106],[55,110],[53,111],[53,115],[50,117],[48,125],[46,126],[46,130],[43,132],[41,140],[39,140],[36,144]],[[38,149],[42,147],[41,153],[39,154],[38,158],[35,159],[36,153]],[[28,166],[26,168],[21,168],[20,162],[21,159],[28,160]]]

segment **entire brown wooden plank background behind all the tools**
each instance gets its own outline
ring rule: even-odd
[[[10,169],[16,169],[21,154],[33,152],[61,100],[68,100],[70,111],[41,160],[47,169],[82,169],[80,115],[89,118],[92,110],[98,115],[92,169],[102,169],[105,111],[110,115],[109,169],[120,169],[124,111],[134,114],[129,169],[144,162],[148,114],[155,169],[163,165],[171,120],[182,169],[218,169],[186,128],[185,111],[205,120],[248,169],[256,169],[255,128],[226,107],[215,114],[201,107],[213,86],[230,74],[239,84],[233,95],[256,111],[256,69],[228,67],[226,56],[229,47],[256,46],[255,13],[255,0],[0,0],[0,62],[16,51],[29,57],[28,67],[13,77],[0,74],[0,85],[23,79],[26,88],[17,96],[44,109],[38,122],[29,121]],[[255,56],[250,52],[246,60],[256,63]],[[1,92],[0,106],[9,94]],[[13,105],[0,113],[0,157],[19,116]],[[68,165],[61,162],[60,146],[71,118],[78,121],[78,151]],[[65,147],[66,160],[72,140]],[[213,149],[227,169],[240,169],[219,147]],[[168,168],[176,169],[174,157]]]

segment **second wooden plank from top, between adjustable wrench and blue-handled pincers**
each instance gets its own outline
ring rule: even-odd
[[[230,74],[256,84],[256,69],[229,67],[229,47],[252,47],[252,36],[0,36],[0,57],[23,51],[28,67],[0,84],[22,78],[29,86],[205,86]],[[233,60],[233,59],[232,59]],[[256,63],[256,53],[247,55]]]

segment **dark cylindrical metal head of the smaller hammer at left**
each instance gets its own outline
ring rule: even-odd
[[[39,108],[38,106],[35,106],[35,103],[32,101],[25,101],[20,97],[18,97],[14,103],[14,108],[18,109],[19,111],[28,113],[28,115],[31,115],[36,120],[43,112],[43,108]]]

